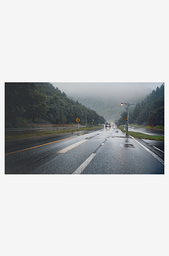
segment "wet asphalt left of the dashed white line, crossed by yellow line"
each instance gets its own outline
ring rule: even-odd
[[[87,141],[91,139],[91,136],[95,136],[99,131],[93,132],[92,135],[84,134],[82,136],[68,137],[68,135],[62,134],[60,138],[43,138],[42,140],[27,142],[24,147],[23,141],[18,141],[18,144],[14,148],[8,145],[7,152],[5,156],[5,173],[6,174],[71,174],[74,168],[78,167],[78,163],[81,164],[85,157],[88,157],[88,152],[86,154],[78,157],[78,152],[76,148],[65,154],[57,154],[55,152],[62,150],[63,148],[70,146],[74,143],[86,139]],[[65,138],[66,137],[66,138]],[[103,139],[104,140],[104,139]],[[32,143],[31,143],[32,141]],[[102,141],[102,139],[101,139]],[[11,144],[11,142],[9,142]],[[99,142],[98,142],[99,143]],[[97,143],[97,144],[98,144]],[[95,145],[97,147],[97,144]],[[78,146],[80,147],[80,145]],[[95,149],[95,147],[94,147]],[[19,151],[19,152],[18,152]],[[16,152],[16,153],[13,153]],[[75,153],[74,153],[75,152]],[[13,154],[10,154],[13,153]],[[76,160],[77,159],[77,160]],[[75,166],[75,167],[74,167]],[[72,170],[73,169],[73,170]]]

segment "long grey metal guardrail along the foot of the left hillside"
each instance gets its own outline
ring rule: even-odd
[[[79,128],[85,128],[86,126],[78,126]],[[27,132],[27,131],[62,131],[62,130],[73,130],[77,129],[76,126],[74,127],[55,127],[55,128],[6,128],[5,132]]]

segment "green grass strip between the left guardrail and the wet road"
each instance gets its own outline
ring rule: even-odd
[[[90,128],[79,128],[79,129],[72,129],[72,130],[61,130],[61,131],[46,131],[46,132],[34,132],[34,133],[26,133],[21,135],[11,135],[11,136],[5,136],[5,141],[8,140],[17,140],[17,139],[25,139],[25,138],[33,138],[33,137],[40,137],[45,135],[52,135],[52,134],[60,134],[60,133],[71,133],[71,132],[80,132],[85,130],[92,130],[92,129],[98,129],[102,128],[103,126],[95,126]]]

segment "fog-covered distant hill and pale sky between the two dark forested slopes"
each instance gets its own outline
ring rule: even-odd
[[[115,121],[126,110],[121,102],[142,102],[162,82],[52,82],[69,98],[95,110],[107,121]],[[134,108],[134,106],[130,106]]]

